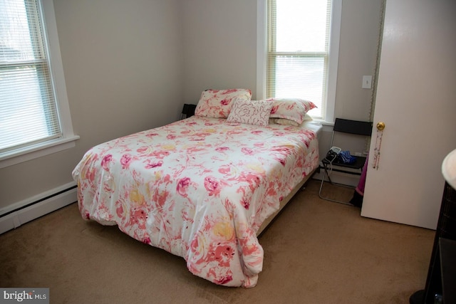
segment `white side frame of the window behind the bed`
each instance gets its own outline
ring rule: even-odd
[[[326,107],[322,122],[334,122],[336,105],[337,68],[341,37],[342,0],[333,0],[331,7],[331,36],[329,38],[328,78],[326,83]],[[257,0],[257,99],[266,95],[266,41],[267,0]]]

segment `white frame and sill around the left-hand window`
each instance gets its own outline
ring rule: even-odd
[[[79,136],[74,135],[73,133],[68,95],[66,94],[65,77],[63,75],[63,64],[58,43],[56,14],[53,7],[53,0],[38,1],[41,2],[43,12],[44,30],[46,31],[49,59],[51,61],[51,75],[63,136],[56,140],[49,140],[37,145],[31,145],[19,150],[1,154],[0,168],[9,167],[14,164],[70,149],[71,147],[75,147],[75,141],[79,139]]]

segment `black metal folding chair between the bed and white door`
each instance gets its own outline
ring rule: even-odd
[[[372,122],[364,122],[359,120],[345,120],[341,118],[336,118],[333,127],[333,135],[331,137],[331,145],[333,147],[333,142],[336,136],[340,135],[340,133],[352,134],[357,135],[361,138],[371,137],[372,135]],[[342,149],[343,150],[343,149]],[[326,157],[321,161],[320,168],[323,169],[323,177],[321,178],[320,184],[320,191],[318,192],[318,196],[321,199],[325,199],[327,201],[334,201],[336,203],[341,204],[350,204],[346,201],[337,201],[335,199],[330,199],[325,197],[321,194],[321,190],[323,189],[323,184],[325,183],[325,179],[328,178],[328,181],[337,186],[347,187],[343,184],[336,184],[331,181],[330,174],[332,171],[336,172],[343,172],[347,174],[356,174],[361,175],[364,163],[366,162],[366,157],[363,156],[356,156],[355,162],[352,163],[344,163],[341,162],[337,154],[331,153],[328,151]],[[349,187],[349,186],[348,186]],[[351,204],[350,204],[351,205]]]

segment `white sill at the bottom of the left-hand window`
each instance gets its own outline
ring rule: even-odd
[[[26,162],[31,159],[36,159],[38,157],[43,157],[48,154],[70,149],[76,145],[75,141],[78,139],[78,135],[72,135],[71,137],[52,140],[33,147],[26,147],[23,150],[16,150],[14,152],[1,154],[0,169],[14,164],[19,164],[21,162]]]

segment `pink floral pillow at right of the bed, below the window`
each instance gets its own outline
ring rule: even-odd
[[[272,102],[271,118],[292,120],[298,125],[304,122],[308,111],[316,108],[311,101],[299,98],[269,98],[266,101]]]

